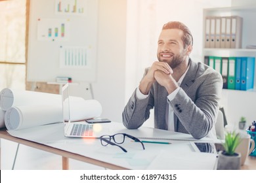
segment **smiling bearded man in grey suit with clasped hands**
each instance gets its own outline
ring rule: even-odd
[[[158,129],[216,137],[215,120],[223,88],[220,73],[189,58],[193,38],[181,22],[168,22],[158,39],[158,61],[146,69],[123,110],[123,124],[139,128],[154,108]]]

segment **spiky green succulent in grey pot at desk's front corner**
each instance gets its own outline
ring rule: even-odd
[[[227,132],[223,143],[223,151],[219,152],[218,170],[239,170],[241,166],[241,154],[236,153],[236,148],[240,144],[239,133],[235,131]]]

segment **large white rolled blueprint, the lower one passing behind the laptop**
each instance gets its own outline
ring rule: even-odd
[[[66,105],[64,103],[64,105]],[[80,97],[70,98],[70,110],[62,112],[59,105],[25,105],[11,107],[5,113],[5,126],[8,130],[24,129],[37,125],[63,122],[64,114],[70,111],[70,120],[85,120],[100,116],[102,107],[96,100]],[[68,118],[68,115],[65,116]]]

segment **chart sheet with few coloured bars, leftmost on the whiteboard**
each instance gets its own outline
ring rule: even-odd
[[[37,39],[39,41],[68,41],[70,24],[65,19],[38,18]]]

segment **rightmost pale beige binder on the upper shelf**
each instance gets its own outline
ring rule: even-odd
[[[231,48],[242,48],[242,23],[242,17],[231,16]]]

